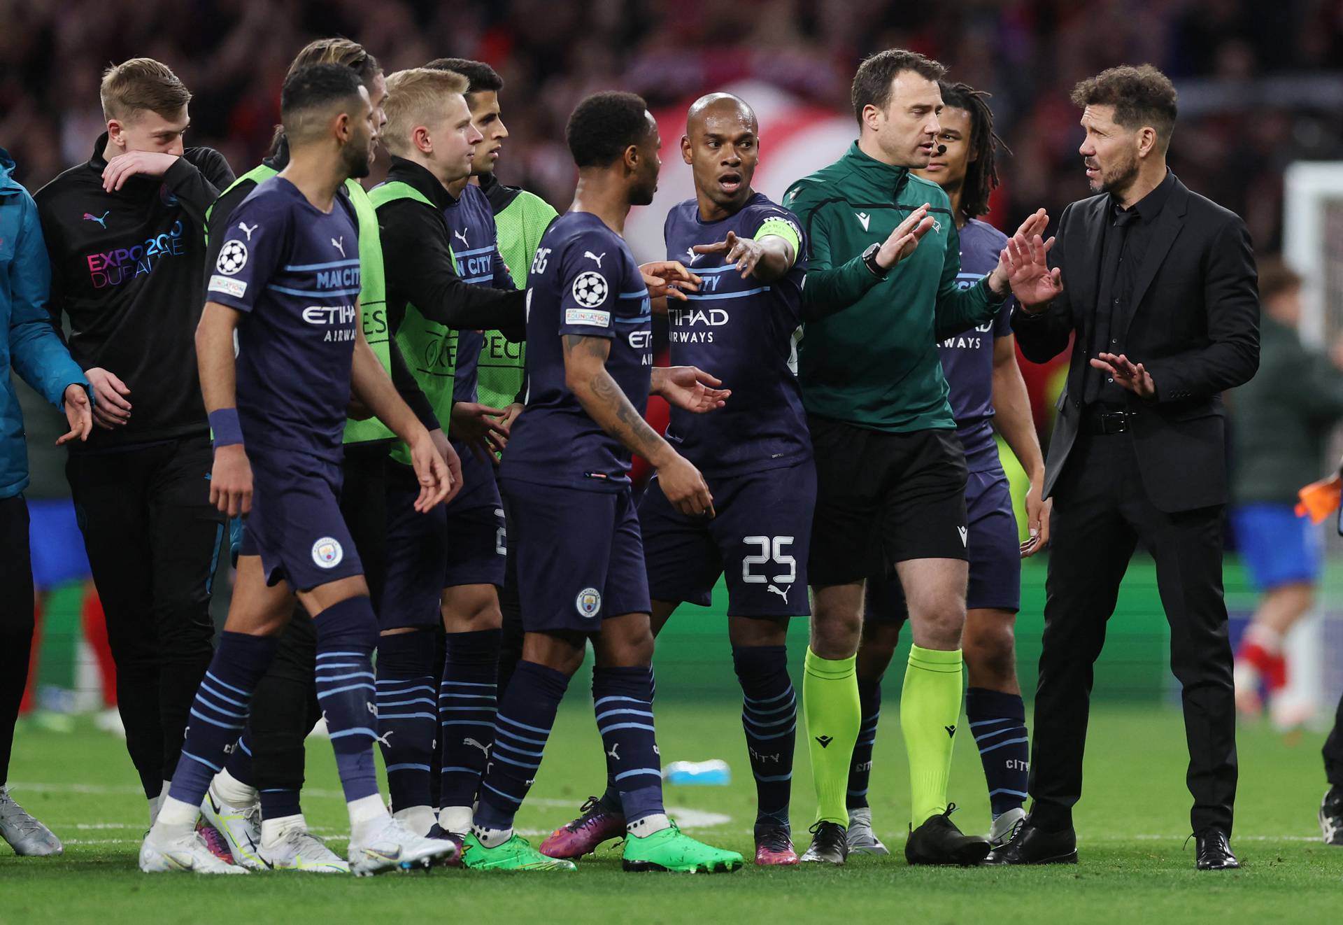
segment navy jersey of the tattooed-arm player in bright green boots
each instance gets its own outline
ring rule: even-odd
[[[653,373],[653,314],[639,264],[602,219],[568,212],[543,235],[528,282],[526,412],[513,424],[500,474],[620,490],[630,483],[630,451],[565,385],[563,337],[610,340],[606,371],[642,415]]]

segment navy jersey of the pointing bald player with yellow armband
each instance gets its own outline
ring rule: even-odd
[[[761,285],[741,278],[721,254],[696,254],[728,232],[739,238],[779,235],[792,243],[792,269]],[[696,200],[667,213],[667,259],[700,275],[698,293],[667,302],[672,364],[698,367],[732,389],[725,407],[709,413],[672,408],[667,440],[706,475],[736,475],[791,466],[811,455],[802,389],[796,376],[794,333],[802,321],[802,283],[807,275],[806,236],[796,216],[761,193],[735,215],[704,222]]]

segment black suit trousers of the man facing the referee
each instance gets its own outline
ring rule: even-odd
[[[1072,826],[1072,807],[1082,792],[1092,667],[1105,643],[1120,580],[1142,542],[1156,564],[1171,631],[1171,671],[1182,687],[1193,828],[1230,834],[1236,703],[1222,599],[1222,506],[1159,510],[1143,489],[1129,434],[1078,436],[1053,497],[1031,820],[1046,831]]]

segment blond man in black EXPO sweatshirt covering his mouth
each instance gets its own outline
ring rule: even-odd
[[[150,818],[172,777],[211,658],[211,577],[224,516],[210,503],[210,426],[191,349],[204,290],[205,209],[234,180],[184,148],[191,93],[133,58],[103,74],[107,130],[87,162],[35,196],[50,311],[93,389],[94,432],[66,475],[107,614],[126,749]]]

